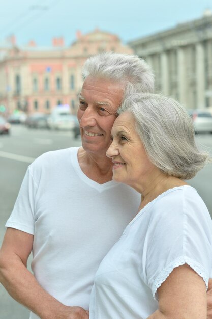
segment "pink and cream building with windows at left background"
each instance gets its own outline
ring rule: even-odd
[[[86,35],[78,31],[69,47],[63,38],[53,38],[50,48],[34,41],[20,47],[14,36],[9,40],[0,45],[0,105],[5,116],[14,110],[50,113],[58,104],[69,104],[75,114],[85,60],[102,51],[133,52],[116,35],[98,29]]]

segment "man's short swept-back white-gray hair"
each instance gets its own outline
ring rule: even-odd
[[[82,68],[88,76],[109,79],[124,85],[124,97],[136,92],[154,91],[154,74],[148,64],[137,56],[104,52],[90,57]]]

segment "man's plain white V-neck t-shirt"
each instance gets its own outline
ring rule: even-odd
[[[99,264],[135,217],[140,194],[90,180],[77,151],[51,151],[28,167],[6,226],[34,235],[32,270],[41,286],[65,305],[88,309]]]

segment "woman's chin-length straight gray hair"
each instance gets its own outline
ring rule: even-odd
[[[198,149],[186,109],[159,94],[133,94],[118,108],[129,111],[150,161],[168,175],[190,179],[204,167],[208,154]]]

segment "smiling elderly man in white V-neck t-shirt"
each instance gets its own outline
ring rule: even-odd
[[[83,74],[82,147],[45,153],[29,166],[6,224],[0,279],[31,319],[89,317],[84,309],[98,265],[140,200],[112,181],[106,150],[120,102],[153,91],[153,74],[143,60],[121,54],[88,59]],[[31,251],[34,275],[26,269]]]

